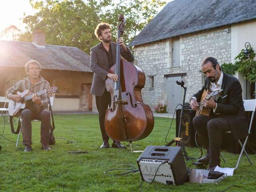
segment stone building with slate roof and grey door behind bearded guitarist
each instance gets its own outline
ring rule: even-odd
[[[256,49],[256,0],[175,0],[168,3],[128,45],[134,64],[146,75],[142,98],[153,108],[158,102],[174,112],[204,84],[201,61],[214,56],[220,64],[234,58],[249,42]],[[255,98],[255,83],[236,74],[244,99]]]

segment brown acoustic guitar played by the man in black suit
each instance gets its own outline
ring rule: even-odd
[[[219,97],[221,97],[222,92],[223,92],[223,89],[219,89],[219,90],[216,90],[216,91],[204,90],[204,92],[202,93],[202,96],[201,96],[201,100],[198,103],[199,108],[196,111],[196,116],[197,115],[210,116],[210,112],[211,112],[212,108],[204,107],[202,100],[203,99],[210,100],[211,97],[219,98]]]

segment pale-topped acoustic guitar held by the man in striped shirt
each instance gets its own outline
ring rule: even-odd
[[[57,92],[58,88],[57,87],[51,87],[49,89],[45,89],[45,90],[42,90],[42,91],[39,91],[36,93],[37,96],[40,96],[42,94],[53,94],[55,92]],[[21,97],[21,102],[18,103],[18,102],[15,102],[13,100],[10,100],[9,104],[8,104],[8,112],[10,114],[10,116],[14,116],[16,115],[19,110],[21,109],[24,109],[26,107],[26,102],[30,99],[32,99],[32,96],[33,94],[31,94],[31,92],[27,89],[27,90],[24,90],[24,92],[17,92],[18,95],[20,95]]]

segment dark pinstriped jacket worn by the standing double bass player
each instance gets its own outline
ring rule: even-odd
[[[116,62],[116,43],[111,43],[111,50],[113,55],[113,62]],[[134,61],[134,57],[132,52],[128,49],[129,52],[126,52],[122,47],[120,47],[121,55],[129,62]],[[112,66],[112,65],[111,65]],[[106,88],[105,80],[108,74],[108,70],[110,69],[110,64],[108,64],[108,57],[106,55],[106,51],[102,45],[100,44],[91,48],[91,56],[90,56],[90,67],[94,72],[93,80],[92,80],[92,88],[91,94],[96,96],[102,96],[104,90]]]

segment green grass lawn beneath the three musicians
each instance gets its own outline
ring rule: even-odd
[[[52,150],[42,151],[40,144],[40,122],[32,122],[32,152],[25,153],[22,138],[18,148],[14,142],[0,139],[0,191],[96,191],[96,192],[137,192],[140,185],[140,174],[125,174],[123,176],[106,176],[106,170],[114,168],[128,168],[121,166],[128,164],[137,166],[136,160],[140,153],[127,149],[100,149],[102,144],[97,114],[55,115],[54,134],[56,144]],[[144,150],[148,145],[163,146],[164,138],[170,126],[169,118],[155,118],[152,133],[145,139],[133,142],[133,150]],[[0,133],[4,128],[3,118],[0,118]],[[168,140],[175,135],[175,120]],[[5,126],[4,136],[12,141],[16,134],[10,131],[9,123]],[[1,137],[1,136],[0,136]],[[110,145],[112,142],[110,142]],[[128,142],[123,144],[128,145]],[[67,151],[83,150],[88,154],[68,154]],[[188,148],[189,156],[198,157],[198,148]],[[205,152],[205,151],[204,151]],[[238,154],[223,151],[227,163],[221,161],[222,167],[235,167]],[[228,191],[255,191],[256,155],[250,155],[253,166],[245,156],[235,170],[232,177],[225,178],[220,184],[185,183],[181,186],[167,186],[158,182],[150,185],[143,182],[141,190],[144,192],[183,192],[183,191],[214,191],[221,192],[231,185]],[[186,162],[188,168],[195,168],[192,162]],[[108,172],[118,174],[125,172]]]

